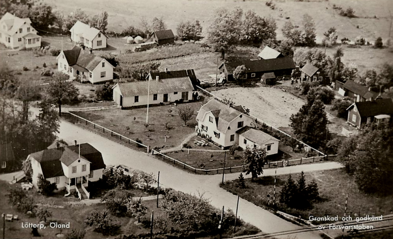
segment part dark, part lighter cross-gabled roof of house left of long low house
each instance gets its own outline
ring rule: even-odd
[[[69,66],[78,65],[88,71],[93,71],[104,59],[93,53],[87,53],[78,46],[74,46],[70,50],[63,50],[62,52],[64,53]],[[108,64],[110,63],[108,62]]]

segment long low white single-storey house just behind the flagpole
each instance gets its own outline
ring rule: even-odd
[[[196,89],[190,76],[172,77],[118,83],[113,86],[113,100],[122,108],[176,101],[189,101],[195,97]],[[147,100],[149,99],[149,100]]]

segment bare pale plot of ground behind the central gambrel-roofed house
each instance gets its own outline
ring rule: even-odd
[[[299,111],[304,100],[273,87],[229,88],[212,92],[250,109],[250,114],[276,127],[288,127],[289,117]]]

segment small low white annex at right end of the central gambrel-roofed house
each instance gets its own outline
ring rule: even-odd
[[[243,149],[254,148],[264,148],[267,155],[276,154],[279,152],[280,140],[274,138],[273,136],[266,134],[265,132],[251,128],[244,127],[239,133],[239,146]]]

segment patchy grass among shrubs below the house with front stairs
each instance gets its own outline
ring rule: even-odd
[[[15,185],[20,187],[19,184]],[[17,212],[9,203],[7,195],[7,189],[10,186],[7,182],[0,181],[0,211],[5,214],[16,214],[19,216],[18,221],[6,222],[6,238],[30,238],[31,237],[31,229],[21,228],[21,223],[38,223],[38,218],[31,218],[25,214]],[[93,210],[103,210],[106,208],[104,204],[95,204],[86,206],[84,204],[69,204],[70,202],[77,202],[79,199],[72,197],[64,197],[62,195],[56,195],[53,197],[45,197],[39,193],[35,189],[32,189],[28,192],[31,196],[34,197],[36,203],[41,203],[48,205],[49,210],[52,212],[52,217],[50,217],[49,221],[57,221],[59,223],[68,223],[70,222],[70,229],[63,229],[62,233],[66,234],[71,229],[84,229],[84,219],[87,214],[89,214]],[[151,211],[154,210],[155,215],[159,215],[161,213],[160,209],[156,208],[156,201],[145,201],[144,205],[149,208],[146,219],[149,218]],[[60,206],[60,207],[54,207]],[[116,217],[112,215],[112,218],[117,221],[121,225],[120,233],[121,234],[136,234],[136,233],[147,233],[148,229],[137,226],[134,224],[136,221],[135,218],[129,217]],[[59,233],[59,230],[56,228],[46,227],[45,229],[38,230],[41,234],[42,238],[56,238],[56,234]],[[115,236],[103,236],[100,233],[96,233],[93,231],[93,228],[86,228],[85,239],[98,239],[98,238],[114,238]]]

